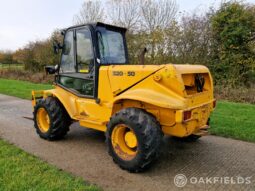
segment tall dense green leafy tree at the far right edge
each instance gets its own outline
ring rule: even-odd
[[[254,63],[254,8],[238,2],[223,3],[211,18],[216,80],[247,84]]]

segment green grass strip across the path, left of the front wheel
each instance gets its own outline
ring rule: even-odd
[[[0,93],[16,96],[23,99],[31,99],[32,90],[52,89],[49,84],[34,84],[26,81],[7,80],[0,78]]]

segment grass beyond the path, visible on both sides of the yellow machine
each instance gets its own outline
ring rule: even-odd
[[[0,93],[31,99],[31,90],[51,85],[0,79]],[[211,134],[255,142],[255,105],[219,101],[211,116]]]

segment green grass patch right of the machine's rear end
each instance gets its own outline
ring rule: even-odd
[[[210,125],[211,134],[255,142],[255,105],[220,101]]]

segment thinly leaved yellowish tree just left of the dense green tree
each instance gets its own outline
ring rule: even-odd
[[[208,14],[183,14],[179,23],[165,29],[167,57],[175,63],[208,64],[210,21]]]

